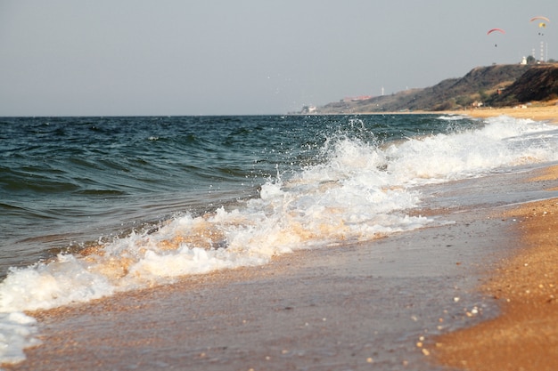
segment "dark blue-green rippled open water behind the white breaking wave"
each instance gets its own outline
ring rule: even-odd
[[[325,161],[340,138],[382,145],[456,125],[475,124],[431,115],[2,118],[0,276],[173,213],[256,197],[278,174]]]

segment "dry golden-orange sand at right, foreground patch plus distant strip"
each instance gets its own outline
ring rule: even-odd
[[[558,123],[558,106],[474,109],[471,117],[507,115]],[[557,190],[558,166],[529,181]],[[548,187],[550,183],[554,186]],[[558,369],[558,198],[532,202],[501,215],[520,224],[519,253],[505,260],[480,291],[501,302],[502,315],[439,336],[434,358],[442,365],[480,370]]]

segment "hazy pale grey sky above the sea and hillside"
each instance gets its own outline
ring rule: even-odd
[[[541,41],[558,60],[556,0],[0,0],[0,117],[281,115]]]

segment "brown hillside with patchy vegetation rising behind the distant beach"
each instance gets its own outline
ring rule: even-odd
[[[390,95],[341,100],[316,108],[317,114],[443,111],[505,107],[558,97],[558,64],[508,64],[478,67],[459,78]],[[308,108],[305,108],[308,110]],[[301,113],[305,112],[305,109]]]

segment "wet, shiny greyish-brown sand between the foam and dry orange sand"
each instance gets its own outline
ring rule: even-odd
[[[5,368],[441,370],[428,339],[497,312],[474,291],[514,241],[491,210],[442,203],[454,223],[33,313],[43,345]]]

